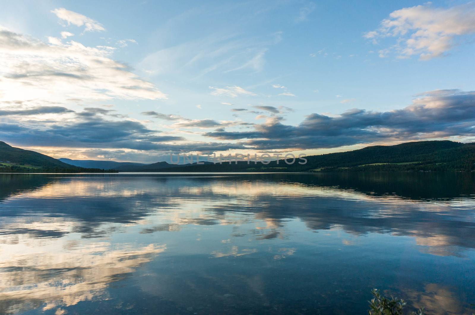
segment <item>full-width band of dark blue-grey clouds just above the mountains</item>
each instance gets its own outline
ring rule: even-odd
[[[18,111],[31,111],[32,114],[39,111],[69,112],[55,106]],[[75,114],[74,120],[4,117],[0,121],[0,139],[23,146],[134,149],[162,155],[163,152],[216,152],[228,149],[336,148],[382,140],[404,142],[454,136],[473,137],[475,92],[432,91],[417,95],[411,105],[393,111],[352,109],[337,117],[312,113],[296,126],[284,124],[283,117],[275,112],[262,124],[180,118],[171,125],[173,128],[213,128],[214,131],[202,135],[218,139],[216,142],[182,144],[179,143],[185,142],[182,137],[149,129],[140,121],[120,119],[117,115],[115,117],[119,119],[108,119],[114,115],[115,112],[111,110],[85,108]],[[249,126],[250,129],[225,129],[242,126]]]

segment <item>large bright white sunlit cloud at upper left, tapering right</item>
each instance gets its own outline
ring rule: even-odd
[[[50,37],[49,44],[0,26],[0,101],[40,103],[166,99],[157,87],[110,58],[113,47]]]

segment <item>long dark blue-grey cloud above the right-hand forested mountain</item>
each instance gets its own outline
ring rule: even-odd
[[[280,117],[255,125],[254,131],[208,132],[215,139],[247,139],[256,149],[337,148],[376,141],[408,141],[475,135],[475,91],[437,90],[418,95],[412,104],[393,111],[353,109],[337,117],[310,114],[297,126]]]

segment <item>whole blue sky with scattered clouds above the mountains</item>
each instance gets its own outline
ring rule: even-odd
[[[475,2],[1,1],[0,140],[52,157],[475,141]]]

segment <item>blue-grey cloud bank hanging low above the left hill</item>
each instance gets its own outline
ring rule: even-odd
[[[24,146],[64,148],[128,148],[151,150],[166,147],[161,142],[179,141],[182,137],[151,130],[139,121],[109,120],[120,118],[110,110],[86,108],[72,118],[62,120],[15,120],[0,122],[0,139]]]

